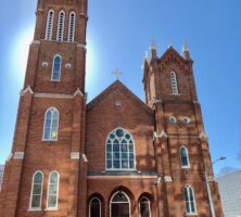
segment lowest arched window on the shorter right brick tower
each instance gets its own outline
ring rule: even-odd
[[[185,187],[185,203],[187,214],[196,214],[195,195],[191,186]]]

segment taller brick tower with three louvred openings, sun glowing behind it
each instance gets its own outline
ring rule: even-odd
[[[87,0],[38,0],[36,17],[0,216],[85,216]]]

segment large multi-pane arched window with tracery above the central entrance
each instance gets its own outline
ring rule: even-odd
[[[134,170],[136,168],[132,136],[123,128],[114,129],[106,140],[106,169]]]

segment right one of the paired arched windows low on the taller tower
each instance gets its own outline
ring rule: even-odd
[[[49,183],[48,183],[48,196],[47,196],[48,209],[58,208],[59,181],[60,181],[60,175],[56,171],[52,171],[49,175]]]

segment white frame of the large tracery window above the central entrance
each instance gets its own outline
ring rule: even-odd
[[[129,133],[132,142],[134,142],[134,168],[107,168],[107,140],[110,139],[110,135],[113,132],[113,131],[116,131],[117,129],[122,129],[126,132]],[[128,150],[128,156],[129,156],[129,150]],[[120,158],[119,158],[120,161]],[[112,163],[114,162],[113,159],[113,151],[112,151]],[[129,162],[129,158],[128,158],[128,162]],[[106,138],[106,141],[105,141],[105,169],[107,171],[136,171],[137,170],[137,159],[136,159],[136,144],[135,144],[135,140],[134,140],[134,137],[127,130],[127,129],[124,129],[123,127],[117,127],[113,130],[111,130],[111,132],[107,135],[107,138]]]

